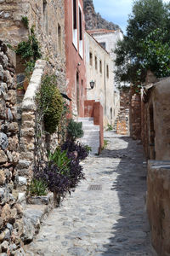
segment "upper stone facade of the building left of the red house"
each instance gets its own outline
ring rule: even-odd
[[[66,91],[65,82],[65,6],[64,0],[1,0],[0,39],[16,47],[28,38],[28,29],[21,21],[29,19],[29,27],[35,26],[42,58],[48,60],[59,80],[59,89]],[[17,73],[22,73],[17,58]]]

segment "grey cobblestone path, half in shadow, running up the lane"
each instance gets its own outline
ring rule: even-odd
[[[153,255],[142,146],[112,131],[105,139],[108,147],[82,163],[86,180],[48,216],[28,255]]]

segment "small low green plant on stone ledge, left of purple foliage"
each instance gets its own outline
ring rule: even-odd
[[[28,194],[31,196],[47,195],[48,186],[42,179],[33,178],[30,185],[28,186]]]

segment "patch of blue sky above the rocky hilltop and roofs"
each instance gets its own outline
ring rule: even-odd
[[[169,2],[170,0],[164,0]],[[126,32],[128,15],[132,11],[133,0],[94,0],[94,8],[105,20],[121,26]]]

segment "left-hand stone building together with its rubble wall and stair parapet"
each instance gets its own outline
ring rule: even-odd
[[[28,27],[23,20],[29,21]],[[31,28],[43,60],[36,62],[25,96],[17,96],[26,63],[7,44],[16,49],[28,40]],[[47,137],[42,135],[37,148],[36,136],[36,95],[43,74],[55,73],[59,90],[66,92],[64,0],[0,1],[0,38],[0,254],[26,255],[20,247],[33,239],[49,210],[37,207],[37,216],[35,206],[26,204],[26,189],[37,154],[47,153]],[[50,148],[56,142],[54,133]]]

